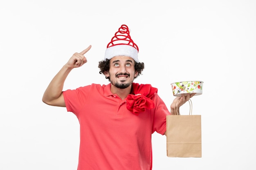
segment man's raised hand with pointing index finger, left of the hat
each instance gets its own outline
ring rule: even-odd
[[[86,57],[84,56],[91,49],[91,45],[87,49],[83,50],[81,53],[74,53],[70,60],[68,60],[66,66],[67,68],[78,68],[83,66],[87,62]]]

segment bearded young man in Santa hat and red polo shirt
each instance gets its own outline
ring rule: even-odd
[[[133,80],[144,69],[138,60],[138,46],[130,38],[128,26],[121,25],[107,45],[100,73],[110,84],[91,84],[63,91],[64,81],[73,68],[87,62],[74,53],[47,87],[43,102],[66,107],[79,119],[80,149],[78,170],[151,170],[151,135],[166,132],[166,105],[150,84]],[[179,108],[191,95],[176,97]]]

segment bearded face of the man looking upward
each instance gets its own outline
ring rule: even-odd
[[[106,76],[110,77],[111,84],[117,88],[127,88],[138,74],[134,66],[135,61],[131,57],[113,57],[110,59],[110,70]]]

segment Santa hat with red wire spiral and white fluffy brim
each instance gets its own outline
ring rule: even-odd
[[[139,62],[138,53],[139,48],[132,41],[128,26],[123,24],[108,43],[104,61],[106,59],[110,60],[115,56],[128,56],[132,57],[135,62]]]

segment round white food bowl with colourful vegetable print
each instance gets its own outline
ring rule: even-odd
[[[196,93],[195,95],[202,95],[203,93],[202,81],[187,81],[172,83],[172,90],[174,96],[186,95],[187,93]]]

